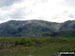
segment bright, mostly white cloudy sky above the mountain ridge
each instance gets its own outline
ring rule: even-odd
[[[75,20],[75,0],[0,0],[0,23],[32,19]]]

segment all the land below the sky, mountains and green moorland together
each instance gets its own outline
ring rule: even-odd
[[[0,56],[58,56],[75,52],[75,21],[8,21],[0,24]]]

